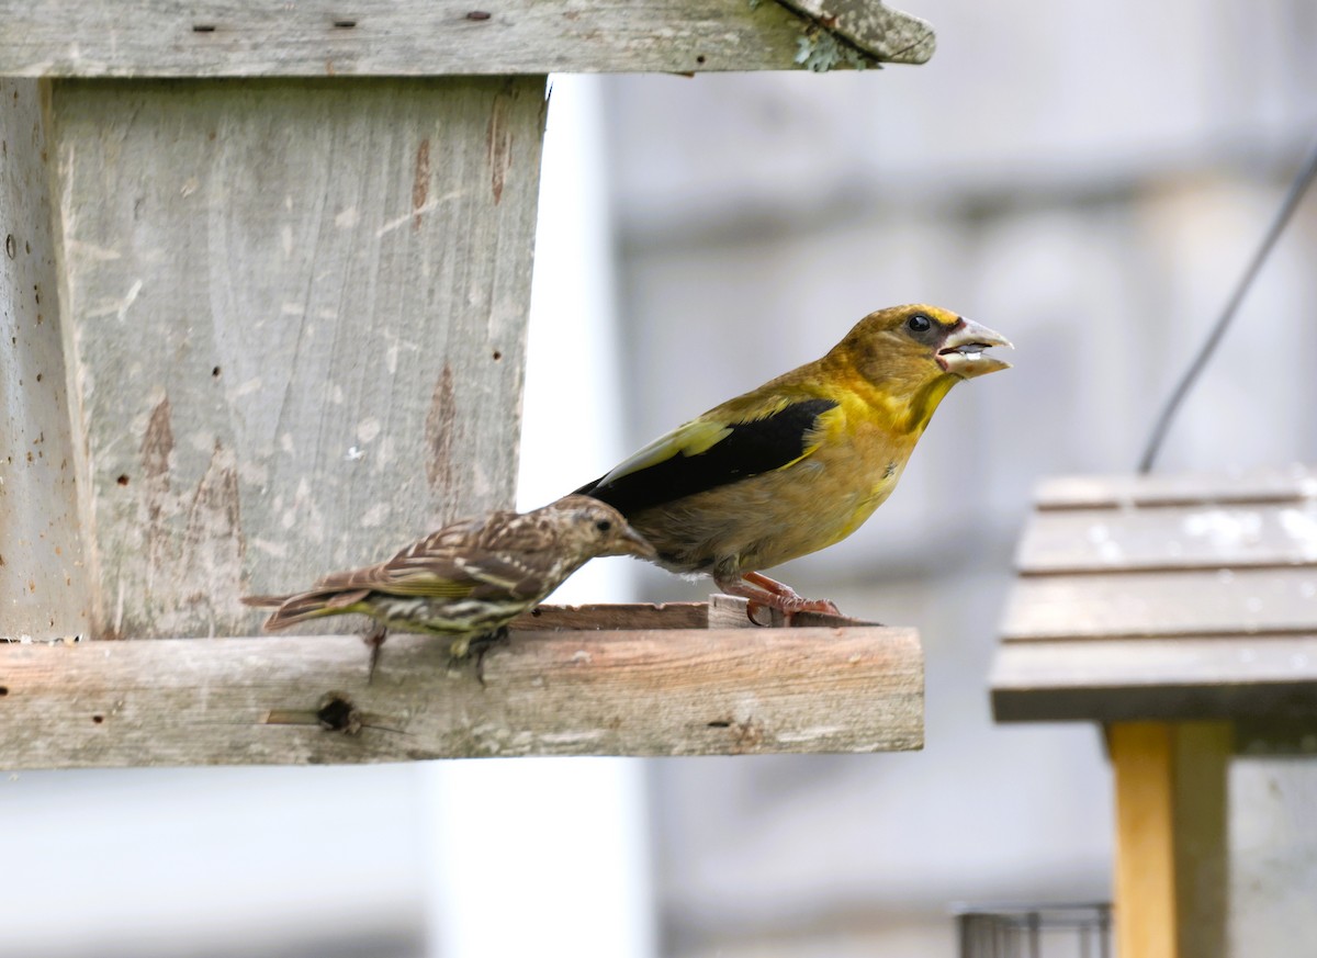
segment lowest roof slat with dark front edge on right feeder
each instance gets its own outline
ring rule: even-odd
[[[997,721],[1317,717],[1317,634],[1011,642],[989,676]]]

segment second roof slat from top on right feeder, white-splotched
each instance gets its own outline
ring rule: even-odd
[[[1317,499],[1043,511],[1030,518],[1015,565],[1026,574],[1299,565],[1317,570]]]

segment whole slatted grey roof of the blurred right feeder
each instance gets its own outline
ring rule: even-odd
[[[1317,717],[1317,472],[1050,480],[1017,565],[1000,721]]]

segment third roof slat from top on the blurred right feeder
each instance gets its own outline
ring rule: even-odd
[[[1285,634],[1317,629],[1312,567],[1023,576],[1002,638]]]

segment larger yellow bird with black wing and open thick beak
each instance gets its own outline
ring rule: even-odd
[[[880,309],[827,355],[677,426],[577,493],[608,503],[660,566],[755,605],[836,612],[759,570],[830,546],[896,488],[952,386],[1009,368],[998,333],[930,305]]]

